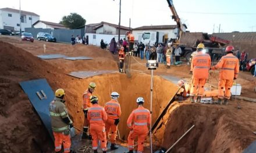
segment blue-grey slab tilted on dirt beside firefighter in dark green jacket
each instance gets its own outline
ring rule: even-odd
[[[40,116],[42,123],[45,128],[48,130],[52,140],[54,136],[52,135],[51,128],[51,118],[49,112],[49,104],[54,100],[54,92],[49,86],[46,79],[37,79],[31,81],[19,82],[22,89],[29,97],[30,103],[37,111],[37,114]]]

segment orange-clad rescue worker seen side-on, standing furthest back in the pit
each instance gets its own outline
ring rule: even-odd
[[[96,84],[94,82],[91,82],[89,84],[88,89],[83,94],[84,127],[83,127],[83,134],[82,134],[81,139],[90,139],[91,138],[91,136],[87,133],[88,128],[89,128],[87,112],[88,112],[88,109],[92,106],[92,104],[90,103],[90,97],[91,97],[91,94],[93,94],[95,88],[96,88]]]

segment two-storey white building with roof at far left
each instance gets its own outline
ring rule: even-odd
[[[24,28],[31,28],[38,20],[40,20],[40,16],[38,14],[21,10],[22,31],[24,31]],[[0,9],[0,29],[19,31],[20,10],[11,8]]]

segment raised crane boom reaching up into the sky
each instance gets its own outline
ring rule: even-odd
[[[176,39],[176,43],[179,44],[180,42],[180,37],[182,36],[182,32],[183,32],[183,25],[182,22],[180,21],[180,18],[176,12],[176,9],[173,5],[172,0],[166,0],[168,2],[169,8],[172,11],[172,19],[174,19],[177,23],[177,39]]]

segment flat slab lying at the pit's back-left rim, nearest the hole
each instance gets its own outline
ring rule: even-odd
[[[80,79],[85,79],[89,77],[93,77],[95,75],[101,75],[101,74],[111,74],[111,73],[116,73],[118,71],[114,70],[99,70],[99,71],[74,71],[70,72],[70,75],[72,77],[80,78]]]

